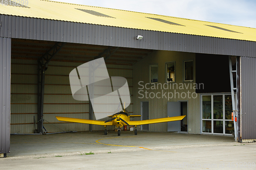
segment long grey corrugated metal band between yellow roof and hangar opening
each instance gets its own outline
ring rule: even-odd
[[[255,57],[256,42],[0,15],[0,37]],[[142,35],[142,40],[136,40]]]

